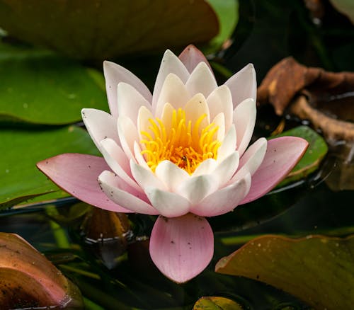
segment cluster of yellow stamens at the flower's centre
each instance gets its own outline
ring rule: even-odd
[[[161,161],[168,160],[191,174],[202,161],[217,159],[217,149],[221,145],[216,139],[219,127],[211,123],[201,128],[205,117],[206,114],[200,115],[193,124],[186,120],[185,110],[173,110],[171,129],[157,117],[149,119],[152,134],[142,131],[144,139],[140,143],[144,145],[142,154],[152,171]]]

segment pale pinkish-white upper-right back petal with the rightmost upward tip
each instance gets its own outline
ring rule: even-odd
[[[247,64],[246,67],[229,78],[225,85],[229,86],[232,93],[234,108],[247,98],[253,98],[256,102],[257,80],[253,64]]]

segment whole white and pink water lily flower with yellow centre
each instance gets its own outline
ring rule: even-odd
[[[222,86],[190,45],[167,50],[153,93],[137,76],[104,63],[110,114],[82,117],[103,158],[62,154],[38,163],[57,185],[91,205],[156,214],[149,251],[161,272],[181,283],[210,263],[206,217],[265,195],[307,148],[298,137],[258,139],[256,73],[249,64]]]

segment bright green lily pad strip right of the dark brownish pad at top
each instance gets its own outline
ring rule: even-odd
[[[239,1],[238,0],[207,0],[207,2],[214,8],[215,13],[219,19],[220,30],[219,34],[210,40],[203,52],[209,54],[216,52],[222,47],[222,44],[227,41],[239,21]]]

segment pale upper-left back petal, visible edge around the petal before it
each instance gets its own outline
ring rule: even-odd
[[[108,104],[110,114],[118,117],[117,86],[120,82],[125,82],[133,86],[149,102],[152,102],[152,94],[149,88],[140,81],[132,72],[113,62],[103,62],[103,71],[105,74],[105,88],[107,90]]]

